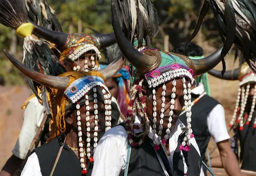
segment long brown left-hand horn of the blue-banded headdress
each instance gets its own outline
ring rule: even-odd
[[[18,68],[23,74],[27,77],[31,78],[35,82],[39,84],[54,88],[64,90],[68,85],[69,78],[68,77],[58,77],[58,76],[50,76],[46,74],[39,73],[32,69],[26,68],[23,64],[17,61],[12,55],[10,55],[6,50],[4,50],[7,58],[13,63],[13,65]]]

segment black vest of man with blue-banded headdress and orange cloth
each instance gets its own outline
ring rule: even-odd
[[[64,135],[61,135],[57,138],[54,138],[49,143],[37,147],[31,152],[35,152],[37,155],[42,176],[50,175],[63,141]],[[93,165],[90,162],[87,163],[88,176],[92,173]],[[75,153],[66,144],[64,144],[53,175],[82,175],[82,168],[80,165],[80,160],[77,158]]]

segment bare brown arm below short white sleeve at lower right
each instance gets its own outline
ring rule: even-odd
[[[222,165],[228,175],[241,175],[238,161],[233,150],[231,149],[229,140],[221,141],[217,143],[217,146],[220,151]]]

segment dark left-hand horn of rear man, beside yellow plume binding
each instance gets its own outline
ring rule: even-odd
[[[68,39],[67,33],[50,30],[50,29],[41,27],[31,21],[30,21],[30,23],[33,24],[34,32],[39,37],[44,38],[44,39],[56,44],[58,48],[62,48],[65,45],[65,43]]]

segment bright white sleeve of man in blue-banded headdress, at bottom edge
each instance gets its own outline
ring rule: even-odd
[[[41,169],[36,153],[32,153],[21,172],[21,176],[41,176]]]

